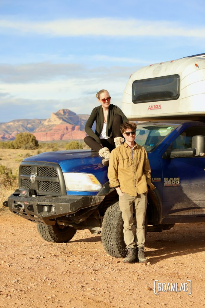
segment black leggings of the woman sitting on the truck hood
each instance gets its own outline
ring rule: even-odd
[[[112,129],[113,129],[113,136],[108,139],[100,139],[102,146],[93,138],[90,136],[85,137],[84,141],[85,143],[94,151],[99,152],[101,148],[108,148],[110,151],[112,151],[115,148],[114,138],[115,137],[122,137],[122,134],[120,132],[120,124],[123,123],[121,115],[114,115],[113,121],[112,121]]]

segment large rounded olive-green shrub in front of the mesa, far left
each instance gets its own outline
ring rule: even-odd
[[[16,149],[33,150],[38,147],[38,141],[31,133],[19,133],[14,140],[14,147]]]

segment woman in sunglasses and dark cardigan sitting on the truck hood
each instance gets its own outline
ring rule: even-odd
[[[102,163],[107,166],[112,149],[124,142],[120,132],[120,124],[128,119],[119,107],[110,104],[111,97],[107,90],[103,89],[97,92],[96,97],[100,106],[93,109],[85,124],[85,132],[88,136],[84,141],[103,157]],[[96,121],[95,133],[92,130],[94,121]]]

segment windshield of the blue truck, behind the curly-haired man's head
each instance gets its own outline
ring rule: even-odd
[[[174,128],[168,125],[138,124],[135,142],[151,152]]]

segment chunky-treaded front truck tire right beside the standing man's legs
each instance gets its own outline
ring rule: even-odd
[[[119,201],[106,210],[102,222],[102,243],[105,251],[112,257],[124,258],[126,245],[123,237],[122,212]]]

